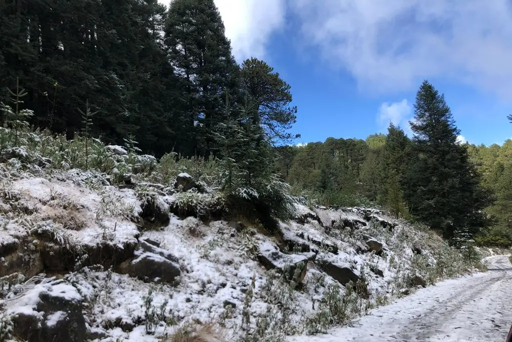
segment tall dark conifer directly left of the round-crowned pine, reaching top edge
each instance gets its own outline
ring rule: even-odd
[[[224,122],[224,91],[238,97],[239,67],[213,0],[175,0],[165,25],[165,47],[182,93],[177,100],[180,152],[209,155]]]

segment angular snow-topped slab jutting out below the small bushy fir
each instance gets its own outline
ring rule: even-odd
[[[293,278],[297,267],[302,267],[298,277],[294,279],[297,283],[304,280],[307,272],[308,258],[298,254],[284,254],[271,243],[265,242],[259,246],[258,259],[268,269],[278,269],[286,272],[289,278]]]

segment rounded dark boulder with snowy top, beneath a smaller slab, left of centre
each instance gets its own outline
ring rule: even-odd
[[[174,284],[181,275],[180,267],[174,261],[148,252],[131,261],[125,261],[119,266],[119,271],[143,281],[164,281],[169,284]]]

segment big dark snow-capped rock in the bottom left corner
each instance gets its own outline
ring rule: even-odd
[[[71,285],[39,284],[11,303],[13,335],[29,342],[82,342],[87,326],[82,298]]]

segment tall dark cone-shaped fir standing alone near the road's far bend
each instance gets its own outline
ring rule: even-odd
[[[444,95],[426,81],[416,95],[411,128],[417,158],[408,170],[406,197],[414,213],[446,237],[461,227],[476,233],[487,224],[483,209],[491,198],[466,147],[457,143],[459,130]]]

